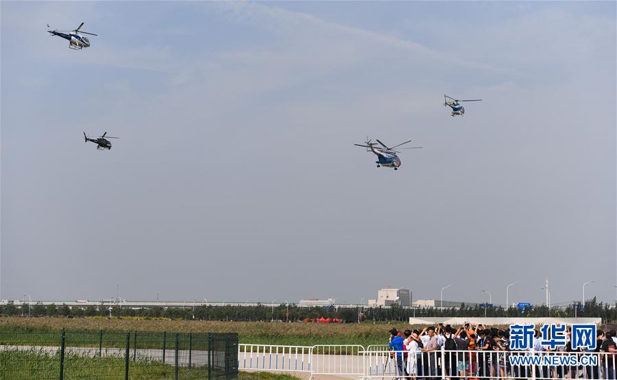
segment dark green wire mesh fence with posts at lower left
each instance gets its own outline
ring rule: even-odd
[[[235,379],[236,333],[0,332],[0,379]]]

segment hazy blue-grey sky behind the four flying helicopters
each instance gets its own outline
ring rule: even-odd
[[[614,1],[2,1],[0,31],[1,299],[615,299]],[[424,149],[378,169],[367,135]]]

